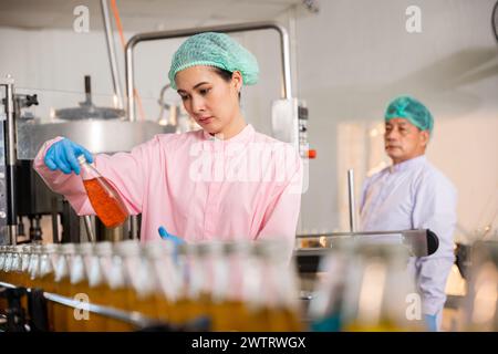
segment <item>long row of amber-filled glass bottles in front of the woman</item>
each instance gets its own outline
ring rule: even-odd
[[[166,241],[3,246],[0,281],[169,324],[208,316],[212,331],[299,331],[294,269],[279,254],[279,243],[243,241],[177,250]],[[100,314],[75,313],[49,302],[51,330],[134,330]]]

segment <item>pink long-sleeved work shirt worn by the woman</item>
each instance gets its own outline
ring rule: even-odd
[[[42,146],[34,169],[77,215],[93,215],[81,177],[52,171],[43,162],[59,139]],[[293,248],[301,159],[290,145],[251,125],[226,140],[205,131],[160,134],[131,153],[94,157],[94,166],[116,187],[128,211],[142,214],[142,240],[158,239],[164,226],[190,242],[283,238],[289,250]]]

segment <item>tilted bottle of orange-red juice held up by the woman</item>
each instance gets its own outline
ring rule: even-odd
[[[95,214],[107,228],[115,228],[126,221],[128,211],[117,190],[92,165],[84,155],[77,157],[81,178]]]

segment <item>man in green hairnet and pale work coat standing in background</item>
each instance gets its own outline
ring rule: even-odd
[[[454,263],[453,233],[457,195],[453,184],[425,157],[434,121],[417,100],[400,96],[385,112],[385,152],[393,165],[367,178],[360,206],[363,231],[430,229],[438,250],[412,258],[423,314],[429,331],[438,331],[446,301],[446,281]]]

